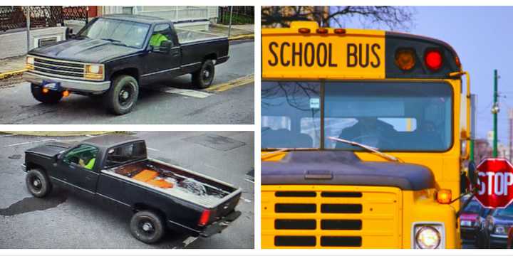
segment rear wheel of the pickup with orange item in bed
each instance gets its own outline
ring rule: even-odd
[[[141,210],[135,213],[130,220],[130,233],[142,242],[157,242],[162,238],[164,232],[162,218],[150,210]]]

